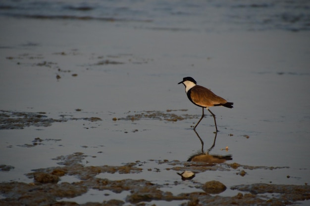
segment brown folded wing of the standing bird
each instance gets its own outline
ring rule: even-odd
[[[209,89],[199,85],[196,85],[191,89],[190,95],[195,104],[203,107],[211,107],[216,104],[225,104],[227,102]]]

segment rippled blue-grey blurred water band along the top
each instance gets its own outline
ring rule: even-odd
[[[132,22],[146,29],[310,30],[309,0],[1,0],[0,15]]]

